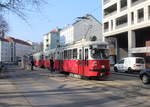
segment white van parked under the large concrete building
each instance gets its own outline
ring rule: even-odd
[[[114,65],[114,71],[141,71],[145,69],[145,60],[142,57],[126,57]]]

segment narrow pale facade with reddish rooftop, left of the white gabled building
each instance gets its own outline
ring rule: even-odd
[[[43,35],[43,51],[57,48],[60,41],[60,29],[54,29]]]

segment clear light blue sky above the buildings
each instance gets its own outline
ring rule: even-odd
[[[21,40],[42,42],[43,35],[55,28],[72,24],[77,17],[92,14],[102,22],[101,0],[46,0],[40,9],[25,11],[26,23],[20,17],[7,13],[8,36]]]

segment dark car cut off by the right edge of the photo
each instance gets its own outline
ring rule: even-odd
[[[142,70],[140,72],[140,79],[144,84],[150,83],[150,69]]]

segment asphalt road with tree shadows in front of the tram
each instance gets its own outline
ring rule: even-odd
[[[9,67],[0,79],[0,107],[150,107],[149,99],[150,85],[134,76],[81,80]]]

